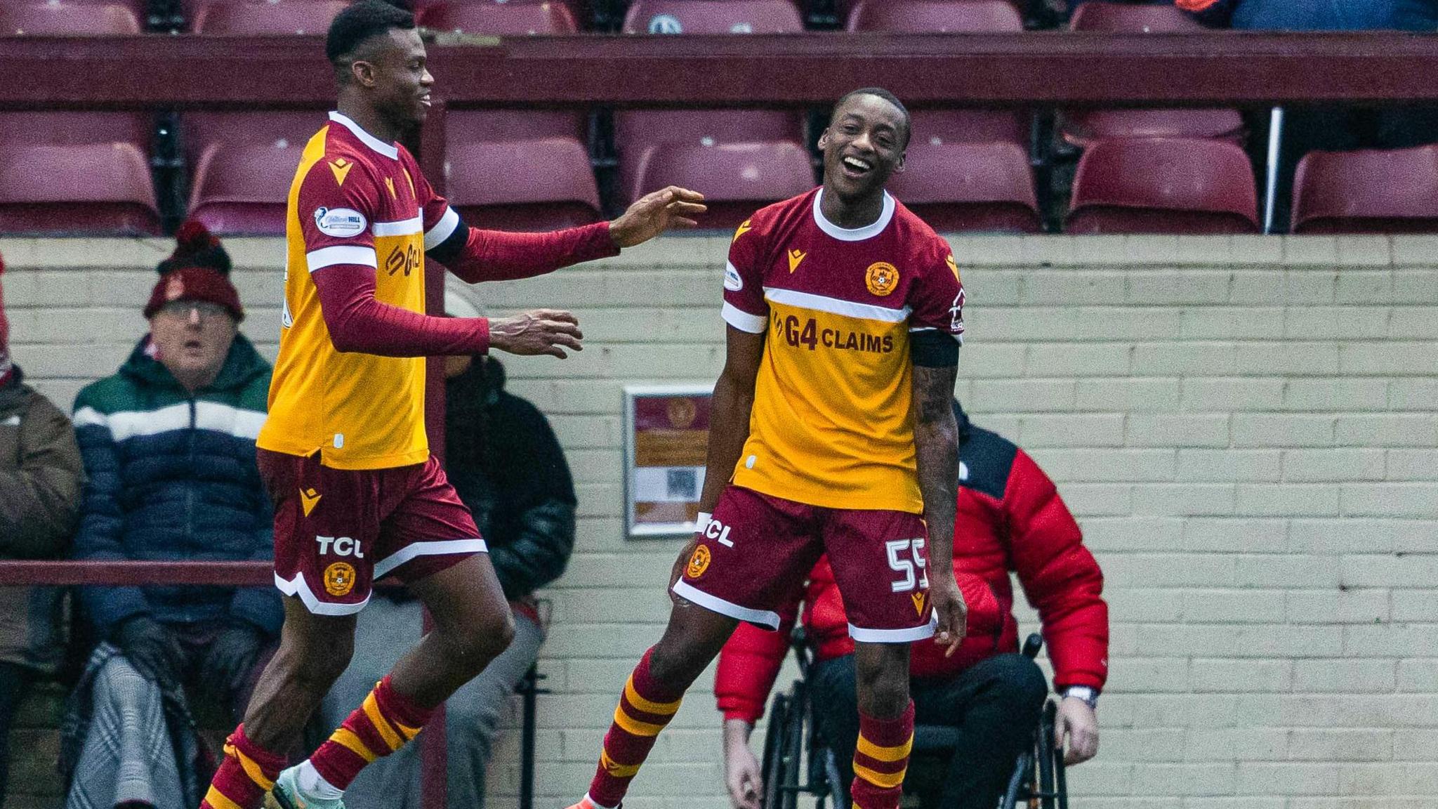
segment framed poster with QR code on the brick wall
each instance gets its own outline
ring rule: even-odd
[[[624,387],[624,533],[693,533],[709,449],[713,384]]]

